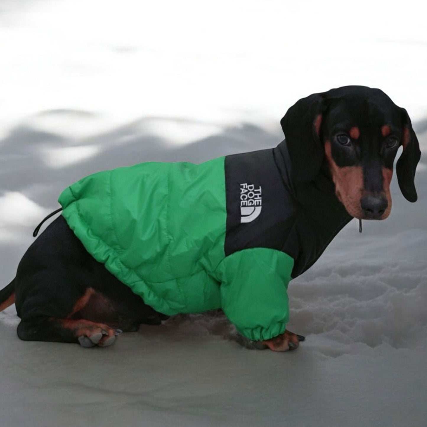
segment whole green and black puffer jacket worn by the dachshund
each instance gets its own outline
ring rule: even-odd
[[[96,260],[160,313],[222,308],[249,339],[284,332],[287,286],[351,219],[330,181],[296,185],[285,141],[90,175],[59,197]]]

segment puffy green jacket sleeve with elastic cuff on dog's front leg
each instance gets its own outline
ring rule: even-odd
[[[284,332],[293,263],[284,252],[254,248],[235,252],[219,264],[222,310],[246,338],[262,341]]]

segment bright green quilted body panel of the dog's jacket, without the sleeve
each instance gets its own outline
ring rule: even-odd
[[[59,203],[88,252],[155,310],[220,307],[214,270],[225,256],[224,158],[95,173]]]

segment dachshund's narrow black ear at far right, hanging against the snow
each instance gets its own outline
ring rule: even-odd
[[[415,169],[421,157],[420,145],[412,129],[411,119],[407,111],[401,108],[401,113],[403,122],[403,152],[396,164],[396,175],[405,199],[409,200],[409,202],[416,202],[418,197],[415,190],[414,178]]]

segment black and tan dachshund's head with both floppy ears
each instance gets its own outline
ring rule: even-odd
[[[345,86],[300,99],[281,120],[297,182],[313,181],[327,166],[335,193],[351,216],[385,219],[390,181],[409,202],[417,200],[415,168],[421,156],[411,120],[379,89]]]

